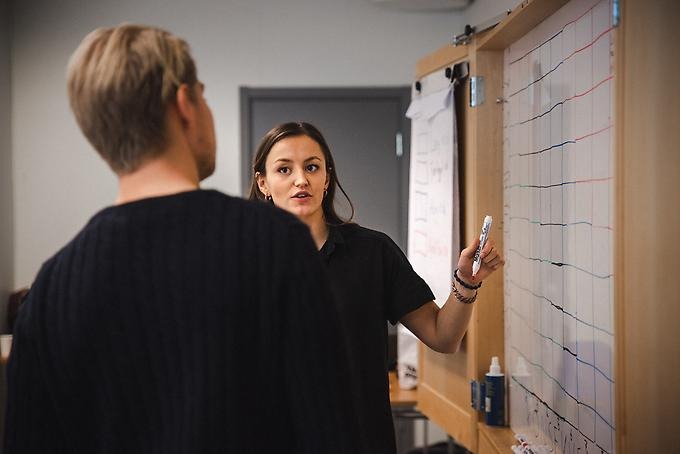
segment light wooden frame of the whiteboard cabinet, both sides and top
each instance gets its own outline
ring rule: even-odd
[[[465,111],[463,244],[476,235],[485,211],[499,210],[502,219],[502,174],[496,171],[497,162],[502,166],[502,116],[494,109],[496,93],[501,94],[502,53],[566,3],[526,0],[493,30],[463,46],[465,52],[448,46],[418,62],[422,77],[468,59],[470,75],[486,79],[485,105]],[[680,89],[675,81],[680,3],[620,0],[620,10],[614,32],[615,451],[669,452],[680,445],[675,435],[680,411],[680,338],[675,335],[680,326]],[[498,181],[489,178],[489,165]],[[502,233],[494,231],[494,237],[502,239]],[[503,330],[502,298],[502,282],[485,283],[468,331],[465,376],[447,370],[446,360],[427,349],[421,355],[419,407],[482,454],[501,452],[511,440],[510,430],[499,432],[481,422],[472,427],[461,417],[469,401],[451,401],[450,387],[481,379],[490,352],[503,357],[503,335],[499,339],[496,331],[498,326]],[[471,419],[474,414],[470,410]]]

